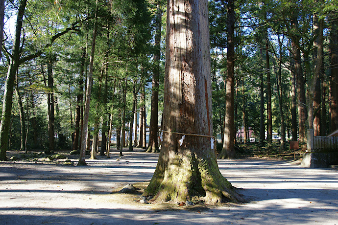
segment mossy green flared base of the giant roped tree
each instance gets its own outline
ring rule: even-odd
[[[159,163],[143,195],[153,196],[152,200],[158,203],[246,202],[221,175],[215,156],[210,154],[204,159],[197,158],[191,152],[188,153],[170,156],[166,166]]]

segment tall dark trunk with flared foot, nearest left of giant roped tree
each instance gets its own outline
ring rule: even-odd
[[[160,152],[158,148],[158,87],[160,76],[160,54],[161,54],[161,28],[162,28],[162,9],[161,5],[157,4],[156,14],[156,33],[155,33],[155,54],[154,66],[152,75],[152,90],[151,90],[151,111],[150,111],[150,128],[149,128],[149,143],[146,152]]]

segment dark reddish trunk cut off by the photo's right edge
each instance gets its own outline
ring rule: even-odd
[[[331,59],[331,132],[338,129],[338,13],[331,17],[330,31]]]

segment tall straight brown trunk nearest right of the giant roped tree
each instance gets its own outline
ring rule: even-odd
[[[228,20],[227,20],[227,71],[226,77],[226,101],[225,101],[225,126],[223,147],[219,158],[236,158],[234,147],[234,93],[235,93],[235,6],[234,0],[227,1]]]

